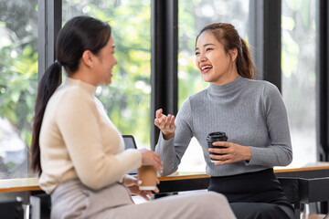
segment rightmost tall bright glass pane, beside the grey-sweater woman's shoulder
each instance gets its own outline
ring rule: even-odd
[[[282,95],[293,162],[315,162],[315,0],[284,0],[281,11]]]

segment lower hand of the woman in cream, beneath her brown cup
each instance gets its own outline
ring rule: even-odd
[[[156,187],[154,190],[154,193],[151,191],[146,191],[146,190],[139,190],[139,185],[142,183],[140,180],[138,180],[137,175],[131,176],[131,175],[125,175],[123,178],[123,183],[125,186],[128,187],[130,192],[134,195],[140,195],[142,196],[145,200],[150,201],[150,198],[147,196],[149,195],[150,197],[154,196],[154,193],[159,193],[159,189]],[[156,182],[159,184],[159,180]]]

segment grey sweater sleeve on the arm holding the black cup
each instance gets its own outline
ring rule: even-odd
[[[271,83],[267,83],[263,95],[263,112],[271,139],[267,147],[250,147],[249,165],[285,166],[292,162],[292,142],[288,116],[281,93]]]

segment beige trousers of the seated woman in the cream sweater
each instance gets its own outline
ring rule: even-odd
[[[115,183],[93,191],[80,181],[61,183],[51,194],[52,219],[234,219],[226,197],[205,192],[174,195],[134,204],[129,190]]]

